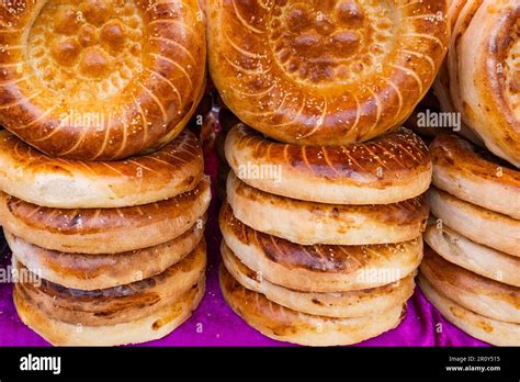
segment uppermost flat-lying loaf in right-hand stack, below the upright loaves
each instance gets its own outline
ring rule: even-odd
[[[520,171],[454,134],[439,136],[430,153],[436,187],[520,220]]]

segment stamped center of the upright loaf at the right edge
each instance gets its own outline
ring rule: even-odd
[[[513,41],[509,48],[509,54],[506,61],[506,68],[497,68],[506,70],[507,85],[507,100],[510,102],[510,108],[517,120],[520,120],[520,33],[519,24],[517,23],[515,31],[511,31],[511,41]]]

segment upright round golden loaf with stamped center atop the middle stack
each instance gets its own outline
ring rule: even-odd
[[[211,75],[241,121],[280,142],[369,141],[430,88],[446,11],[439,0],[208,1]]]

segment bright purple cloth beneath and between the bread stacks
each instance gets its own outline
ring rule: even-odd
[[[216,183],[216,158],[206,160],[207,172]],[[215,189],[213,194],[216,195]],[[218,229],[219,202],[215,196],[210,207],[206,229],[208,267],[206,294],[193,316],[169,336],[142,346],[291,346],[264,337],[249,327],[225,303],[218,286],[221,233]],[[0,267],[5,267],[10,254],[3,251]],[[18,317],[12,303],[12,285],[0,284],[0,346],[48,346]],[[441,333],[437,332],[441,324]],[[394,330],[357,346],[486,346],[446,322],[425,299],[420,290],[408,303],[403,323]]]

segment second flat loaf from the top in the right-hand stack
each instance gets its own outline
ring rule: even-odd
[[[464,202],[434,187],[428,192],[431,213],[473,241],[520,257],[520,221]]]

